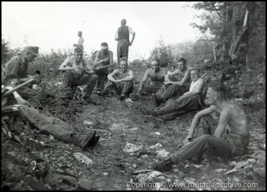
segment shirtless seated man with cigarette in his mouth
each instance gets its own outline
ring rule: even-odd
[[[144,77],[139,84],[136,94],[130,94],[130,98],[132,100],[139,100],[140,94],[151,95],[153,93],[156,93],[163,86],[164,77],[165,75],[167,75],[167,72],[165,69],[161,68],[159,64],[160,62],[158,59],[152,60],[151,68],[146,70]],[[150,85],[144,85],[148,77],[150,77],[151,83]]]

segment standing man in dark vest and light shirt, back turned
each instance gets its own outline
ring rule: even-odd
[[[119,68],[120,59],[126,59],[128,61],[129,46],[132,45],[135,37],[135,32],[131,27],[126,26],[126,19],[120,21],[121,26],[115,33],[115,41],[118,41],[117,45],[117,67]],[[129,33],[133,35],[132,40],[129,39]],[[130,41],[130,42],[129,42]]]

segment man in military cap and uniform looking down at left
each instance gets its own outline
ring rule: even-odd
[[[28,63],[34,61],[34,59],[39,55],[39,47],[29,46],[26,47],[23,52],[17,53],[16,56],[13,56],[9,62],[5,64],[5,76],[13,74],[20,78],[20,84],[24,83],[32,78],[35,79],[33,83],[41,82],[40,74],[31,76],[28,73]],[[20,96],[24,99],[28,99],[36,91],[30,87],[24,87],[18,90]]]

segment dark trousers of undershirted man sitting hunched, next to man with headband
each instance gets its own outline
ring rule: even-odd
[[[76,77],[71,71],[65,71],[63,76],[62,85],[64,87],[75,88],[77,86],[87,85],[85,89],[85,94],[90,95],[96,85],[97,76],[96,75],[82,75],[81,77]]]

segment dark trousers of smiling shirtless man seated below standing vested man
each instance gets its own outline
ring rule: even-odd
[[[118,95],[129,95],[133,92],[133,85],[133,81],[122,81],[115,84],[114,82],[108,80],[103,91],[108,92],[110,89],[115,88]]]

